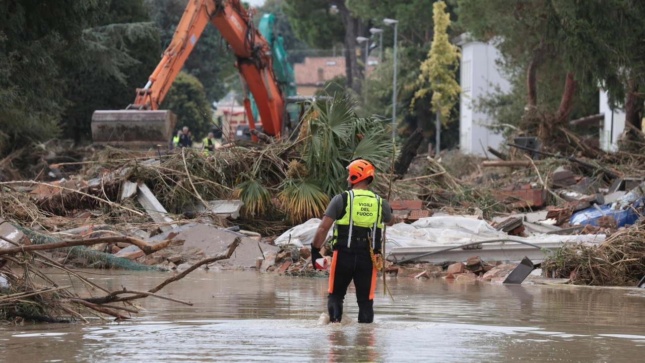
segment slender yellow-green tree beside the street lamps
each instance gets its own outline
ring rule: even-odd
[[[430,82],[430,87],[420,88],[412,99],[412,107],[414,107],[415,99],[426,96],[432,90],[432,111],[439,112],[444,125],[450,121],[447,116],[459,101],[459,94],[461,94],[461,87],[455,79],[461,54],[459,48],[448,40],[450,15],[445,10],[446,3],[443,1],[434,3],[435,28],[432,47],[428,52],[428,58],[419,67],[421,70],[419,82],[422,85]]]

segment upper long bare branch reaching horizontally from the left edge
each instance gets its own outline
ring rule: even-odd
[[[119,242],[135,245],[139,247],[141,251],[143,251],[143,253],[145,254],[155,253],[167,247],[175,247],[175,246],[184,244],[184,240],[164,240],[157,244],[151,245],[151,244],[148,244],[148,242],[139,240],[139,238],[134,238],[130,236],[106,236],[106,237],[88,238],[84,240],[64,240],[61,242],[54,242],[51,244],[21,245],[19,247],[9,247],[5,249],[0,249],[0,256],[3,254],[15,254],[15,253],[21,253],[21,252],[30,252],[30,251],[43,251],[46,249],[88,246],[88,245],[95,245],[95,244],[110,244],[110,243],[119,243]]]

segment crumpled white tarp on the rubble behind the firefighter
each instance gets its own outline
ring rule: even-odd
[[[275,244],[290,243],[298,247],[309,246],[313,242],[316,229],[321,220],[314,218],[304,224],[297,225],[286,231],[275,240]],[[332,228],[327,236],[332,234]],[[509,236],[497,231],[484,220],[464,218],[459,216],[441,216],[421,218],[412,224],[397,223],[386,229],[386,252],[393,247],[431,247],[437,245],[461,245],[482,240],[508,238],[521,240],[532,244],[541,242],[602,242],[604,234],[582,234],[575,236],[560,236],[557,234],[536,234],[530,237]]]

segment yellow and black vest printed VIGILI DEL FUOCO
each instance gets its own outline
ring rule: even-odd
[[[381,249],[381,197],[364,189],[350,190],[346,194],[345,214],[333,227],[333,247],[369,249],[369,245],[365,243],[369,240],[372,242],[372,249]]]

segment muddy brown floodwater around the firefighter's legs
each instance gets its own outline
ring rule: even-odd
[[[87,275],[150,289],[168,275]],[[61,282],[65,281],[59,275]],[[392,278],[375,323],[318,326],[324,278],[195,271],[126,323],[0,326],[0,362],[643,362],[645,291]],[[382,286],[379,282],[377,289]],[[77,287],[83,291],[83,287]]]

